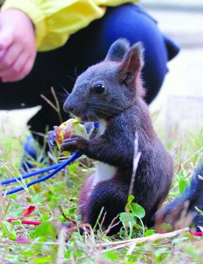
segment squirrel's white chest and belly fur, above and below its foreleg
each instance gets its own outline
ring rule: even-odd
[[[99,123],[99,129],[96,137],[102,135],[105,132],[106,126],[107,126],[106,121],[101,120]],[[95,186],[99,182],[111,180],[116,174],[116,170],[117,168],[114,166],[111,166],[104,162],[98,162],[93,186]]]

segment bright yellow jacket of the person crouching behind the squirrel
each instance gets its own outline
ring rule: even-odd
[[[36,30],[39,51],[64,45],[69,36],[105,14],[106,6],[136,0],[6,0],[2,10],[16,8],[26,13]]]

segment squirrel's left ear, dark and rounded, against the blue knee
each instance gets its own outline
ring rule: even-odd
[[[118,39],[111,45],[105,61],[121,62],[128,50],[129,42],[126,39]]]

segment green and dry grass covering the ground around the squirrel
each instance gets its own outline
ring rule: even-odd
[[[167,203],[179,196],[190,181],[191,172],[203,153],[203,129],[199,134],[194,135],[190,132],[178,140],[164,139],[161,129],[158,132],[175,157],[175,177],[171,192],[165,201]],[[19,175],[24,136],[6,138],[3,132],[0,132],[1,180],[11,178],[11,175]],[[43,157],[43,161],[31,161],[34,167],[42,168],[58,162],[56,151],[48,157],[44,148],[40,149],[39,146],[37,148],[38,157]],[[66,236],[65,230],[61,228],[61,222],[66,220],[60,209],[65,216],[80,224],[81,219],[77,212],[78,192],[87,175],[92,171],[94,164],[83,157],[48,181],[1,199],[0,262],[33,264],[203,262],[201,260],[203,240],[194,238],[188,232],[183,232],[178,237],[168,236],[164,239],[139,243],[134,241],[130,244],[129,239],[143,237],[142,222],[137,216],[132,221],[130,232],[122,232],[120,238],[107,237],[102,229],[97,232],[92,231],[90,234],[86,232],[83,236],[75,230],[72,236]],[[12,188],[15,186],[12,184]],[[25,220],[42,221],[42,225],[36,227],[23,225],[20,221],[7,222],[8,218],[20,219],[30,205],[35,206],[36,209]],[[133,208],[133,205],[129,206],[129,210]],[[140,213],[143,213],[142,209]],[[145,228],[145,238],[149,239],[148,236],[153,235],[153,232]],[[19,238],[26,238],[27,244],[20,244]],[[68,240],[67,243],[65,240]],[[120,241],[123,241],[123,244],[119,244]]]

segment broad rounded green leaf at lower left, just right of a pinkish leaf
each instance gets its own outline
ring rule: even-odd
[[[41,225],[38,225],[38,227],[35,230],[35,237],[42,237],[46,236],[49,238],[55,238],[56,237],[56,228],[51,222],[44,222]]]

